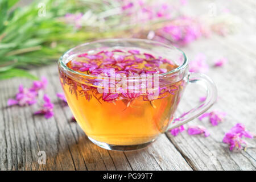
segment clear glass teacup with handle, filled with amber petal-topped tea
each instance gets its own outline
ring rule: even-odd
[[[214,104],[208,76],[188,72],[185,54],[144,39],[85,43],[59,60],[69,107],[88,138],[108,150],[136,150],[160,134],[198,117]],[[175,118],[188,83],[204,83],[207,99]]]

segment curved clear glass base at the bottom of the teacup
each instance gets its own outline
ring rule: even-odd
[[[108,143],[104,143],[104,142],[99,142],[97,140],[94,140],[90,137],[88,137],[90,141],[92,141],[92,143],[96,144],[97,146],[101,147],[101,148],[105,148],[106,150],[115,150],[115,151],[132,151],[132,150],[139,150],[141,148],[147,147],[148,145],[150,145],[152,142],[154,142],[154,140],[152,140],[151,142],[147,142],[147,143],[142,143],[142,144],[134,144],[134,145],[115,145],[115,144],[108,144]]]

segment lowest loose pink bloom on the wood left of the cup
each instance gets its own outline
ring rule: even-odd
[[[54,105],[51,103],[51,100],[49,99],[47,94],[44,94],[43,100],[44,100],[44,105],[43,105],[42,109],[39,111],[36,111],[34,114],[44,114],[44,117],[46,119],[49,119],[49,118],[53,117],[53,115],[54,115],[54,113],[53,113]]]

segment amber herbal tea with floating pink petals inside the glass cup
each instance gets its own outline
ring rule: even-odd
[[[113,145],[148,143],[166,131],[187,84],[164,76],[178,67],[173,61],[138,49],[85,52],[65,64],[85,74],[59,69],[76,121],[88,137]]]

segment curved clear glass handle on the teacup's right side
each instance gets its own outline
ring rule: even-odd
[[[212,79],[202,73],[189,73],[189,84],[199,84],[207,90],[207,97],[203,103],[199,106],[189,110],[188,112],[175,118],[174,122],[168,126],[167,130],[175,129],[185,123],[199,117],[205,111],[207,111],[217,100],[217,88]]]

